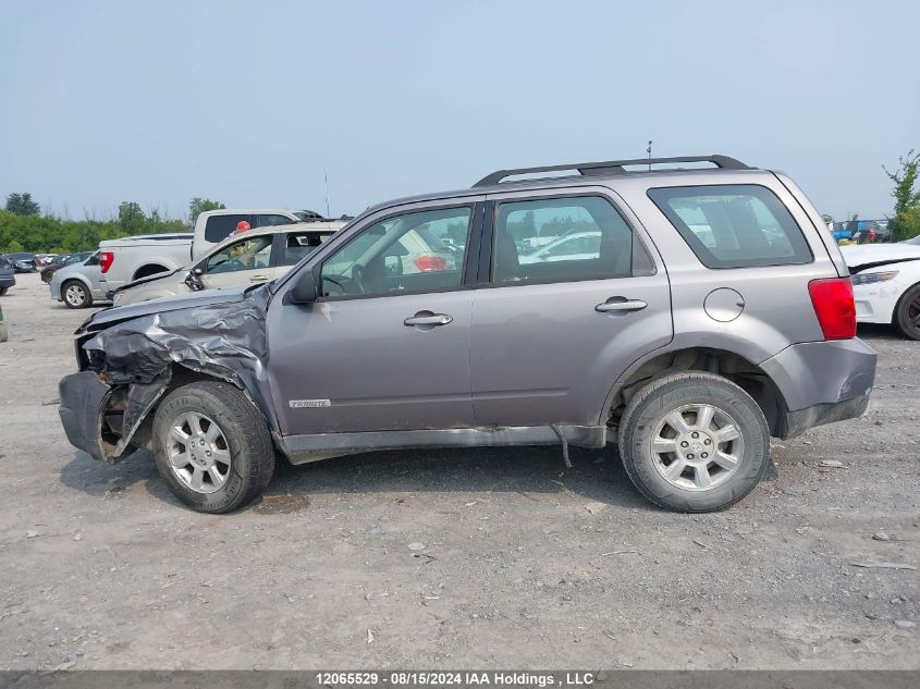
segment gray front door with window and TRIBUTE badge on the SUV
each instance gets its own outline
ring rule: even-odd
[[[318,302],[282,298],[269,309],[283,434],[473,425],[465,268],[474,208],[371,218],[310,264]]]

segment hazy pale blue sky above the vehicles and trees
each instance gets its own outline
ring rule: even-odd
[[[719,152],[891,213],[916,0],[0,0],[0,196],[326,211],[492,170]]]

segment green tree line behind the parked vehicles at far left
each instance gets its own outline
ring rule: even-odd
[[[165,218],[158,209],[145,212],[136,201],[119,205],[118,218],[99,220],[87,217],[83,220],[60,218],[51,212],[41,212],[41,207],[32,195],[10,194],[7,205],[0,209],[0,253],[15,254],[74,254],[91,251],[99,242],[118,239],[137,234],[160,234],[163,232],[188,232],[198,214],[206,210],[225,208],[219,201],[195,197],[188,202],[186,219]]]

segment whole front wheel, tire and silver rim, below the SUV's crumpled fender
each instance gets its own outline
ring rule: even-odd
[[[237,387],[217,381],[191,383],[163,398],[154,417],[154,453],[173,494],[198,512],[248,504],[274,472],[265,417]]]

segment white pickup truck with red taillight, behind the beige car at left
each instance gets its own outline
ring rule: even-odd
[[[292,222],[317,223],[321,227],[328,222],[312,211],[303,210],[260,208],[205,211],[198,216],[195,230],[191,233],[146,234],[101,242],[101,286],[107,294],[112,294],[140,278],[187,266],[229,237],[242,221],[248,222],[252,229]]]

